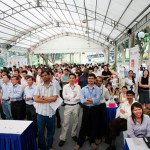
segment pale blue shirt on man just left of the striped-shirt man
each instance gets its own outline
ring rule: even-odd
[[[31,100],[25,100],[26,104],[33,105],[33,102],[34,102],[33,97],[34,97],[35,89],[36,89],[36,86],[34,84],[32,84],[31,87],[27,86],[24,89],[24,98],[32,97]]]

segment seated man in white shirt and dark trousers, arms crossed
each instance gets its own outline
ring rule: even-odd
[[[109,123],[109,142],[110,145],[106,150],[115,150],[115,138],[119,131],[127,130],[127,119],[131,116],[131,105],[135,102],[135,93],[131,90],[127,91],[127,101],[120,108],[119,117],[113,119]]]

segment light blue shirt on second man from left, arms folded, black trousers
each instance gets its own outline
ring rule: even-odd
[[[20,84],[13,85],[10,92],[11,101],[20,101],[23,96],[23,87]]]

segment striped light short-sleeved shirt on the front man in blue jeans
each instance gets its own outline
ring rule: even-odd
[[[43,82],[36,87],[34,95],[40,96],[40,97],[42,96],[50,97],[50,96],[59,95],[56,88],[57,88],[56,84],[54,83],[50,83],[49,86],[46,87]],[[51,108],[49,104],[50,102],[49,103],[34,102],[36,113],[43,115],[43,116],[52,117],[55,114],[55,111]]]

